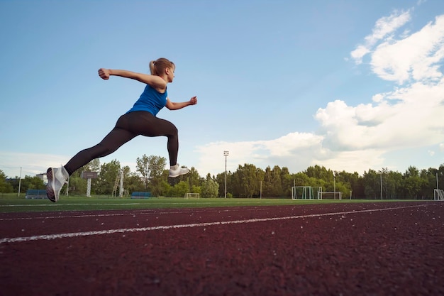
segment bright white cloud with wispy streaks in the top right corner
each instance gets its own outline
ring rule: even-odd
[[[409,81],[440,80],[438,62],[444,58],[444,15],[437,16],[420,31],[404,31],[396,38],[396,30],[411,20],[410,11],[395,11],[379,18],[365,43],[357,45],[350,55],[357,65],[371,55],[373,72],[383,80],[403,84]]]

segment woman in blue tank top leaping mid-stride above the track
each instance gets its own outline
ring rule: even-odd
[[[74,155],[61,168],[48,168],[48,185],[46,194],[51,202],[59,200],[60,190],[73,172],[95,158],[109,155],[136,136],[166,136],[168,155],[170,157],[170,177],[178,177],[189,172],[177,163],[179,138],[177,128],[170,121],[157,118],[157,112],[164,106],[170,110],[182,109],[197,104],[197,98],[188,102],[171,102],[167,95],[167,84],[174,79],[175,65],[170,60],[160,58],[150,62],[151,75],[135,73],[127,70],[99,69],[99,76],[108,80],[110,76],[120,76],[138,80],[147,84],[140,98],[126,114],[117,121],[113,130],[96,146],[84,149]]]

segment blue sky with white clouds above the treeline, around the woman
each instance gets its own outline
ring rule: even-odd
[[[444,1],[0,1],[0,170],[94,146],[143,92],[100,67],[177,68],[159,117],[201,176],[252,163],[362,174],[444,163]],[[101,163],[167,158],[138,137]]]

